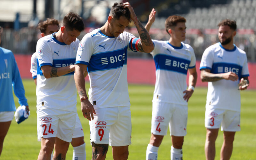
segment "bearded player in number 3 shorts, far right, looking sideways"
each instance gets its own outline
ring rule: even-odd
[[[247,57],[233,44],[236,21],[222,20],[219,24],[219,43],[206,48],[200,63],[201,79],[208,82],[205,110],[207,160],[215,157],[215,140],[221,124],[224,142],[220,159],[230,159],[236,131],[240,131],[240,92],[249,86]],[[239,86],[239,81],[245,82]]]

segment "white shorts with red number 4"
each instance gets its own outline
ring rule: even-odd
[[[188,106],[153,102],[151,133],[166,135],[168,124],[170,135],[185,136],[187,134]]]

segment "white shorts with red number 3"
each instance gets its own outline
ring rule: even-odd
[[[208,129],[220,128],[221,125],[221,131],[240,131],[240,112],[206,108],[204,125]]]

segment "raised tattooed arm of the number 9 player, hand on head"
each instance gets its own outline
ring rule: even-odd
[[[138,49],[140,52],[146,52],[149,53],[153,51],[154,44],[151,40],[151,37],[147,31],[147,29],[140,23],[140,20],[137,18],[135,12],[133,11],[133,8],[129,2],[126,2],[123,4],[124,8],[128,8],[131,13],[131,19],[133,20],[139,36],[140,36],[140,42],[138,43]]]

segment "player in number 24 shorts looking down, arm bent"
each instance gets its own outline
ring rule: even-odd
[[[53,147],[53,158],[65,159],[71,142],[77,115],[73,72],[79,44],[76,37],[82,30],[82,18],[69,12],[57,33],[37,42],[37,130],[41,138],[38,159],[50,159]]]

